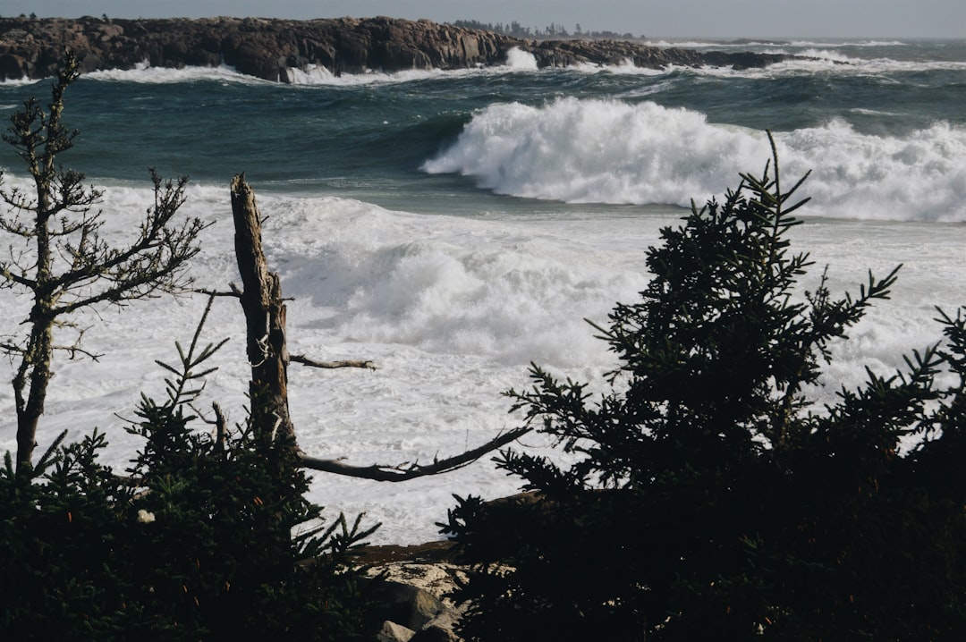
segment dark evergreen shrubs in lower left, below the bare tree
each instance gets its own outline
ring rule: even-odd
[[[207,315],[207,311],[206,311]],[[199,326],[200,332],[200,326]],[[352,548],[375,530],[322,524],[291,449],[250,426],[192,429],[218,346],[178,347],[145,396],[129,477],[101,466],[103,434],[33,469],[0,469],[0,639],[353,640],[366,599]]]

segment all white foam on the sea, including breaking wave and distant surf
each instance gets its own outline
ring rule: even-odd
[[[845,51],[835,42],[808,46],[832,57]],[[781,77],[811,70],[868,74],[876,66],[919,69],[919,63],[901,61],[841,62],[848,64],[826,59],[765,70],[689,73]],[[961,69],[956,63],[939,65]],[[397,83],[521,70],[526,79],[532,68],[525,55],[487,70],[336,78],[316,69],[293,79],[306,84]],[[667,73],[667,80],[658,81],[668,83],[677,77],[673,69],[628,66],[584,66],[580,71]],[[226,69],[143,69],[94,78],[267,83]],[[786,186],[813,171],[801,192],[813,197],[801,210],[806,222],[791,233],[793,249],[810,250],[816,262],[802,279],[803,289],[814,289],[824,265],[833,293],[855,293],[868,268],[884,275],[904,264],[892,300],[878,302],[850,340],[833,347],[836,361],[822,386],[812,391],[819,403],[833,402],[839,386],[861,385],[867,366],[888,375],[903,367],[904,353],[937,341],[933,306],[953,312],[964,302],[963,129],[937,123],[900,136],[870,136],[830,120],[776,136]],[[762,132],[708,123],[693,110],[569,99],[540,107],[509,103],[483,109],[456,144],[428,161],[426,169],[467,174],[499,193],[548,202],[686,206],[692,198],[700,204],[735,186],[738,171],[760,172],[768,157]],[[29,188],[15,174],[5,175],[4,181],[7,187]],[[582,320],[606,324],[614,302],[637,298],[647,283],[645,249],[658,242],[662,226],[676,225],[683,214],[669,207],[630,212],[561,205],[556,215],[556,206],[544,203],[534,217],[526,203],[514,209],[514,199],[501,200],[504,213],[498,215],[413,214],[344,198],[263,195],[258,184],[253,186],[268,217],[270,265],[280,272],[284,293],[294,297],[288,302],[291,351],[320,360],[373,359],[378,365],[375,372],[290,369],[300,445],[311,455],[358,465],[432,461],[519,425],[519,416],[507,415],[509,402],[501,392],[529,385],[531,360],[559,377],[591,381],[599,388],[614,362]],[[486,194],[481,201],[492,203],[493,197]],[[151,204],[148,181],[113,181],[102,204],[104,234],[129,238]],[[460,210],[466,214],[472,207],[463,203]],[[226,291],[229,282],[238,281],[227,188],[192,184],[184,212],[213,222],[190,267],[197,285]],[[164,373],[155,360],[176,358],[174,343],[185,345],[190,339],[203,304],[201,296],[158,298],[78,319],[90,327],[85,346],[103,356],[98,362],[57,356],[41,448],[62,430],[78,439],[97,426],[110,439],[105,461],[123,469],[139,441],[123,430],[118,415],[130,417],[142,391],[163,395]],[[22,332],[28,305],[22,293],[0,290],[0,335]],[[233,422],[243,420],[246,405],[243,334],[237,301],[217,299],[203,340],[230,341],[214,358],[219,369],[207,377],[200,407],[216,400]],[[70,339],[61,337],[61,343]],[[0,378],[9,381],[9,364],[4,368]],[[0,385],[0,452],[15,447],[13,408],[9,384]],[[199,430],[207,427],[199,424]],[[535,436],[526,437],[523,445],[536,453],[550,452]],[[563,457],[559,452],[552,456]],[[518,485],[484,458],[449,475],[402,485],[318,475],[311,498],[327,506],[329,516],[365,512],[370,522],[384,522],[374,541],[405,544],[439,537],[434,523],[444,520],[454,504],[450,493],[497,497]]]

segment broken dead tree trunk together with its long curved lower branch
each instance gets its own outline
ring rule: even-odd
[[[236,176],[231,183],[232,214],[235,220],[235,255],[241,272],[243,290],[232,291],[241,300],[247,332],[247,355],[251,365],[249,398],[255,429],[266,442],[291,449],[298,463],[323,472],[361,477],[380,482],[403,482],[416,477],[436,475],[462,468],[483,455],[530,432],[529,426],[516,428],[459,455],[408,465],[373,464],[356,466],[339,460],[308,457],[298,448],[298,440],[288,402],[288,366],[295,361],[313,368],[374,368],[371,361],[320,362],[303,355],[290,356],[286,341],[286,308],[277,272],[270,271],[262,250],[262,216],[255,193]],[[218,420],[223,422],[223,419]]]

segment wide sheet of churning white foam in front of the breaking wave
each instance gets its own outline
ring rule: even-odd
[[[694,123],[702,126],[700,119]],[[726,146],[736,140],[728,136],[737,134],[721,135]],[[760,166],[760,155],[747,154],[754,156],[751,169]],[[6,181],[11,186],[20,179]],[[107,187],[105,234],[128,237],[151,202],[149,187]],[[288,303],[290,350],[320,360],[373,359],[378,365],[375,372],[290,368],[301,446],[311,455],[357,465],[433,461],[519,425],[520,417],[507,415],[509,402],[501,393],[529,385],[530,361],[599,387],[613,357],[582,319],[606,323],[616,301],[637,298],[648,279],[645,249],[658,242],[661,227],[677,224],[681,215],[595,208],[556,218],[474,218],[392,211],[334,197],[271,195],[260,196],[259,204],[268,217],[264,240],[270,265],[280,272],[284,293],[294,297]],[[184,211],[213,222],[191,265],[197,285],[227,290],[230,281],[238,281],[227,188],[191,187]],[[867,268],[882,275],[905,264],[893,300],[877,304],[851,341],[834,347],[837,361],[816,391],[820,401],[833,401],[840,385],[861,384],[867,365],[880,373],[901,368],[903,353],[938,339],[932,306],[952,312],[966,292],[962,224],[819,217],[795,228],[792,237],[793,248],[811,250],[817,263],[803,279],[804,288],[814,288],[822,265],[829,265],[833,292],[841,293],[855,292]],[[22,330],[24,299],[0,291],[0,334]],[[164,373],[154,362],[176,358],[174,343],[190,339],[203,303],[201,296],[159,298],[83,317],[81,324],[91,328],[87,348],[103,356],[96,363],[57,356],[41,448],[62,430],[77,439],[98,426],[110,440],[105,461],[123,469],[139,441],[123,430],[117,415],[131,417],[142,391],[163,394]],[[243,420],[246,405],[243,332],[237,301],[219,298],[203,340],[230,341],[215,357],[219,370],[208,377],[200,407],[218,401],[232,422]],[[15,446],[13,405],[9,385],[0,386],[0,451]],[[523,444],[552,453],[536,436]],[[310,496],[329,516],[364,512],[370,522],[383,521],[374,542],[412,544],[439,537],[434,524],[452,507],[450,493],[497,497],[516,491],[518,483],[485,458],[402,485],[317,475]]]

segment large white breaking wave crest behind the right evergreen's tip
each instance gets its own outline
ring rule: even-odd
[[[833,120],[776,138],[789,178],[813,171],[813,213],[966,220],[966,128],[938,123],[888,137]],[[768,155],[763,132],[708,123],[693,110],[560,98],[487,107],[423,169],[471,176],[499,194],[688,206],[722,193]]]

